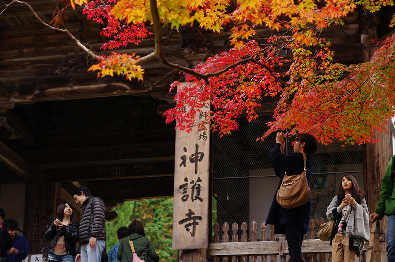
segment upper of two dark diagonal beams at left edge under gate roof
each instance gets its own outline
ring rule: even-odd
[[[6,113],[1,113],[0,116],[6,119],[6,123],[4,124],[4,128],[6,130],[10,131],[24,143],[35,145],[35,141],[30,133],[29,128],[22,121],[20,121],[19,118],[9,111]]]

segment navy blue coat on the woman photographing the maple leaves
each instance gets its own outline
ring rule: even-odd
[[[281,144],[276,143],[272,150],[269,152],[270,161],[273,164],[276,176],[280,177],[279,185],[277,186],[276,193],[273,196],[273,202],[270,206],[266,224],[275,225],[274,232],[276,234],[285,234],[284,225],[294,225],[300,227],[302,232],[307,233],[308,224],[311,214],[311,200],[302,206],[291,209],[281,207],[277,202],[277,191],[280,189],[281,181],[284,177],[284,172],[287,171],[288,176],[298,175],[303,172],[303,154],[292,153],[284,155],[281,153]],[[312,158],[306,155],[306,175],[307,183],[310,185],[310,178],[313,172]]]

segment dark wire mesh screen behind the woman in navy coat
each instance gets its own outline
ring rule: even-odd
[[[279,183],[269,160],[276,135],[272,134],[263,142],[256,141],[267,130],[265,123],[270,120],[260,118],[248,123],[239,119],[239,131],[222,138],[213,136],[213,197],[216,205],[213,218],[220,228],[224,222],[230,228],[236,222],[239,238],[241,223],[247,222],[250,227],[252,221],[258,223],[257,234],[260,236],[260,224],[266,220]],[[293,140],[294,137],[286,141],[284,153],[293,153]],[[363,189],[362,146],[342,146],[338,142],[327,146],[318,144],[310,180],[311,218],[323,217],[327,221],[326,208],[338,194],[340,179],[345,174],[353,175]],[[219,235],[221,238],[221,230]]]

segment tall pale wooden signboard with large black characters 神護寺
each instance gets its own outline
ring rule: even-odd
[[[188,110],[188,109],[187,109]],[[209,104],[196,123],[204,120]],[[202,249],[208,243],[209,126],[176,131],[173,249]]]

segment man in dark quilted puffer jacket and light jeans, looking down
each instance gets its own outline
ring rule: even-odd
[[[82,205],[78,230],[81,256],[78,254],[76,261],[81,257],[81,262],[100,262],[106,240],[104,202],[100,197],[92,196],[87,187],[76,188],[73,199],[77,204]]]

